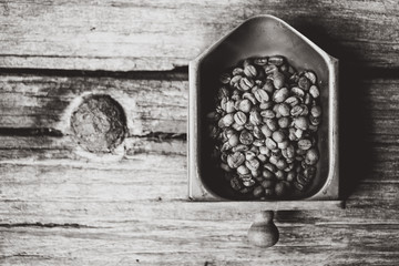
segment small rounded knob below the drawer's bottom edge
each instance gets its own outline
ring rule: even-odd
[[[248,241],[254,246],[270,247],[279,238],[278,229],[273,223],[273,211],[263,211],[255,216],[255,221],[248,231]]]

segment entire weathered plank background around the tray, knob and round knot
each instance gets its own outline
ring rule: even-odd
[[[245,19],[275,14],[340,60],[346,208],[187,202],[187,63]],[[0,2],[0,265],[398,265],[399,1]],[[84,153],[73,102],[106,93],[129,137]],[[316,208],[316,209],[314,209]]]

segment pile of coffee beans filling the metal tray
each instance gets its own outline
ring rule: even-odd
[[[207,114],[213,157],[234,191],[249,198],[304,193],[319,160],[317,76],[285,57],[249,58],[219,76]]]

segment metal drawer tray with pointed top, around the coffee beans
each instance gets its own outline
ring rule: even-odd
[[[188,197],[193,201],[242,201],[218,178],[221,170],[211,163],[211,141],[205,115],[214,106],[218,74],[239,60],[256,55],[285,55],[289,63],[316,72],[323,123],[318,131],[320,160],[313,185],[300,196],[287,200],[338,200],[338,60],[273,16],[257,16],[243,22],[198,58],[190,62]],[[297,64],[297,65],[296,65]],[[301,66],[301,68],[298,68]],[[280,200],[278,200],[280,201]]]

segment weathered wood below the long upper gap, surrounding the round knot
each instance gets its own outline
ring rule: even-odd
[[[357,84],[341,93],[346,208],[278,212],[280,241],[259,249],[246,243],[259,204],[187,201],[186,74],[0,75],[1,264],[395,265],[399,80]],[[71,106],[93,92],[127,110],[121,153],[73,139]]]

